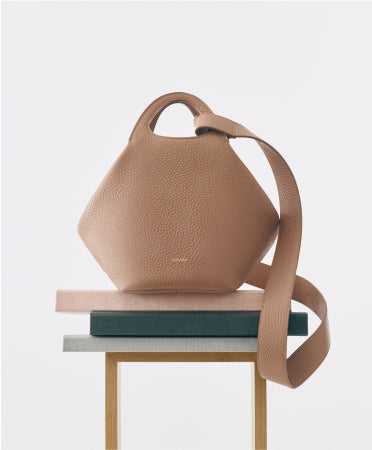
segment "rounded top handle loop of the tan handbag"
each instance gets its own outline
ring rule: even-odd
[[[174,103],[182,103],[185,105],[195,117],[201,114],[211,114],[211,109],[195,95],[186,92],[173,92],[163,95],[153,101],[142,113],[138,119],[129,141],[148,134],[154,134],[155,125],[161,113]]]

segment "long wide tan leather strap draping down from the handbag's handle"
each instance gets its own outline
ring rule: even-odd
[[[274,173],[280,202],[280,226],[272,266],[260,263],[247,283],[265,289],[258,331],[260,375],[288,387],[302,384],[322,363],[329,345],[327,305],[309,281],[296,276],[301,245],[302,210],[296,180],[283,157],[243,125],[213,113],[194,119],[196,134],[219,131],[229,138],[254,139]],[[321,320],[317,330],[287,359],[291,298],[310,308]]]

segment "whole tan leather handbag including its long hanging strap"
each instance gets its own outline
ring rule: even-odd
[[[154,132],[173,103],[191,111],[195,136]],[[229,139],[238,137],[255,140],[266,156],[280,217],[230,146]],[[174,295],[177,302],[179,293],[226,297],[243,283],[263,289],[259,373],[297,387],[324,360],[330,342],[322,294],[296,275],[301,228],[297,184],[282,156],[243,125],[213,114],[199,98],[176,92],[159,97],[140,116],[78,231],[123,292]],[[261,263],[276,238],[272,265]],[[291,299],[310,308],[321,324],[287,358]]]

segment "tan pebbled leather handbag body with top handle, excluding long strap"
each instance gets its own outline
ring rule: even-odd
[[[276,236],[278,214],[226,135],[152,131],[179,98],[194,113],[207,110],[187,94],[150,105],[79,223],[86,246],[125,292],[233,292]]]

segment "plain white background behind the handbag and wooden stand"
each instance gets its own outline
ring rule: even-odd
[[[113,288],[77,222],[144,108],[179,90],[299,184],[298,272],[328,300],[332,348],[299,389],[269,384],[269,448],[371,448],[371,19],[371,3],[3,5],[4,449],[104,447],[104,356],[62,353],[89,318],[55,313],[55,290]],[[192,134],[191,115],[158,130]],[[259,150],[232,145],[276,202]],[[125,448],[249,448],[248,364],[122,372]]]

